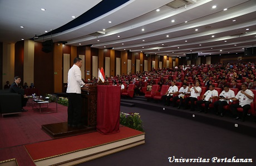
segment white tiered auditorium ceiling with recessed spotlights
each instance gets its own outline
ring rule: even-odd
[[[101,2],[0,0],[0,42],[16,43],[37,35],[40,42],[53,39],[67,45],[173,57],[191,52],[199,56],[241,53],[244,47],[256,45],[256,0],[130,0],[76,27],[58,31],[91,8],[97,9]],[[167,6],[170,2],[178,8]]]

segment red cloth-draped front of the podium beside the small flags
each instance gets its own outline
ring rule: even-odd
[[[97,131],[102,134],[120,132],[120,86],[97,86]]]

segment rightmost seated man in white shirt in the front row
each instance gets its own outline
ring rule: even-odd
[[[253,102],[254,94],[251,90],[247,89],[247,84],[242,84],[241,91],[238,92],[237,96],[233,98],[233,101],[239,100],[239,103],[230,105],[230,110],[235,115],[235,120],[240,119],[242,122],[245,120],[245,116],[250,109],[250,103]],[[242,116],[238,115],[237,108],[243,108]],[[240,114],[240,113],[239,113]]]

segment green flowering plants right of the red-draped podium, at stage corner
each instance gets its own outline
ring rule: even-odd
[[[139,131],[143,131],[142,120],[139,113],[120,112],[120,124]]]

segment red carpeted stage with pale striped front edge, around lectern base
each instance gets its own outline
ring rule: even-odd
[[[49,106],[53,109],[54,106]],[[1,118],[0,161],[18,165],[71,165],[122,151],[145,143],[145,133],[120,127],[115,134],[92,132],[52,139],[42,125],[67,120],[67,107],[58,105],[57,113],[40,114],[27,106],[27,112]],[[15,163],[15,162],[14,162]]]

